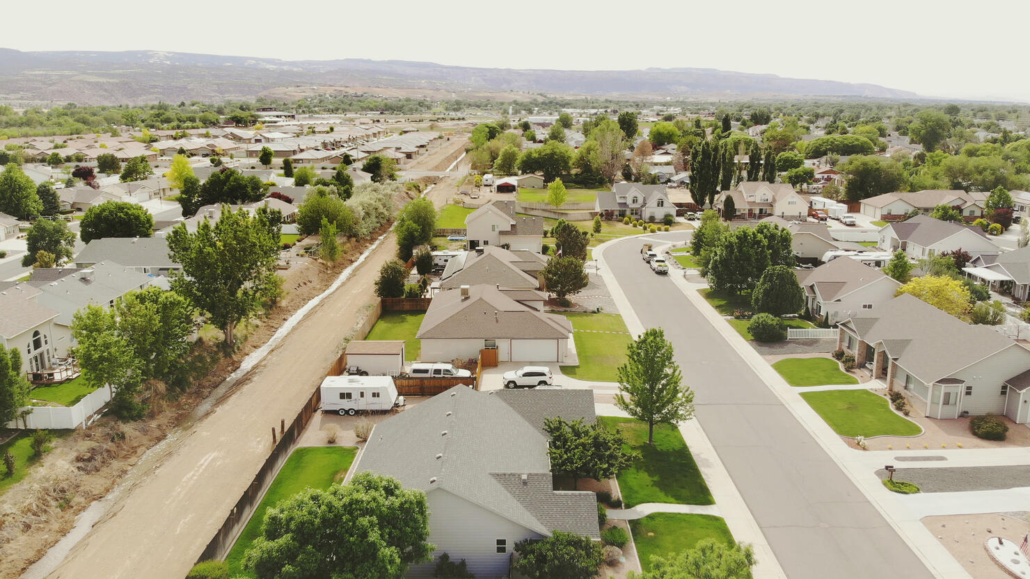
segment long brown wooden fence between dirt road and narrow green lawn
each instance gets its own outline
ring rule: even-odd
[[[221,559],[229,553],[229,550],[233,547],[233,543],[236,542],[236,538],[250,519],[254,508],[261,503],[265,492],[268,491],[269,485],[272,484],[272,480],[275,479],[275,475],[278,474],[279,467],[289,457],[289,453],[294,448],[294,443],[300,438],[301,433],[304,432],[304,428],[308,426],[311,417],[318,411],[320,404],[321,389],[316,386],[315,391],[308,398],[308,401],[301,408],[301,411],[298,412],[289,427],[285,429],[282,429],[281,426],[279,429],[272,427],[274,435],[278,437],[272,455],[265,460],[265,464],[262,465],[261,470],[258,471],[253,480],[250,481],[247,490],[243,492],[240,500],[236,502],[233,510],[226,517],[226,521],[221,523],[221,528],[214,534],[214,538],[204,548],[204,552],[201,553],[197,563],[208,559]]]

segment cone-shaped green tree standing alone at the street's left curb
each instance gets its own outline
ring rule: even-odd
[[[650,328],[627,347],[626,363],[619,366],[615,405],[648,425],[648,444],[654,443],[654,425],[690,420],[694,393],[681,385],[673,345],[661,328]]]

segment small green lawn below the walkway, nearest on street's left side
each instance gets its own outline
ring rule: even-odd
[[[705,539],[733,544],[726,521],[709,514],[654,513],[630,520],[629,529],[633,532],[637,555],[645,573],[651,570],[652,555],[667,558],[694,548]]]

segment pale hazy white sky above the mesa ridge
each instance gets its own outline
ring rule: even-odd
[[[45,0],[4,15],[32,23],[4,27],[20,50],[697,67],[1030,102],[1026,0]]]

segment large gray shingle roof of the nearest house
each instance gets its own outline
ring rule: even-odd
[[[376,425],[362,471],[451,493],[541,535],[599,537],[593,495],[553,491],[546,437],[500,397],[464,386]]]

